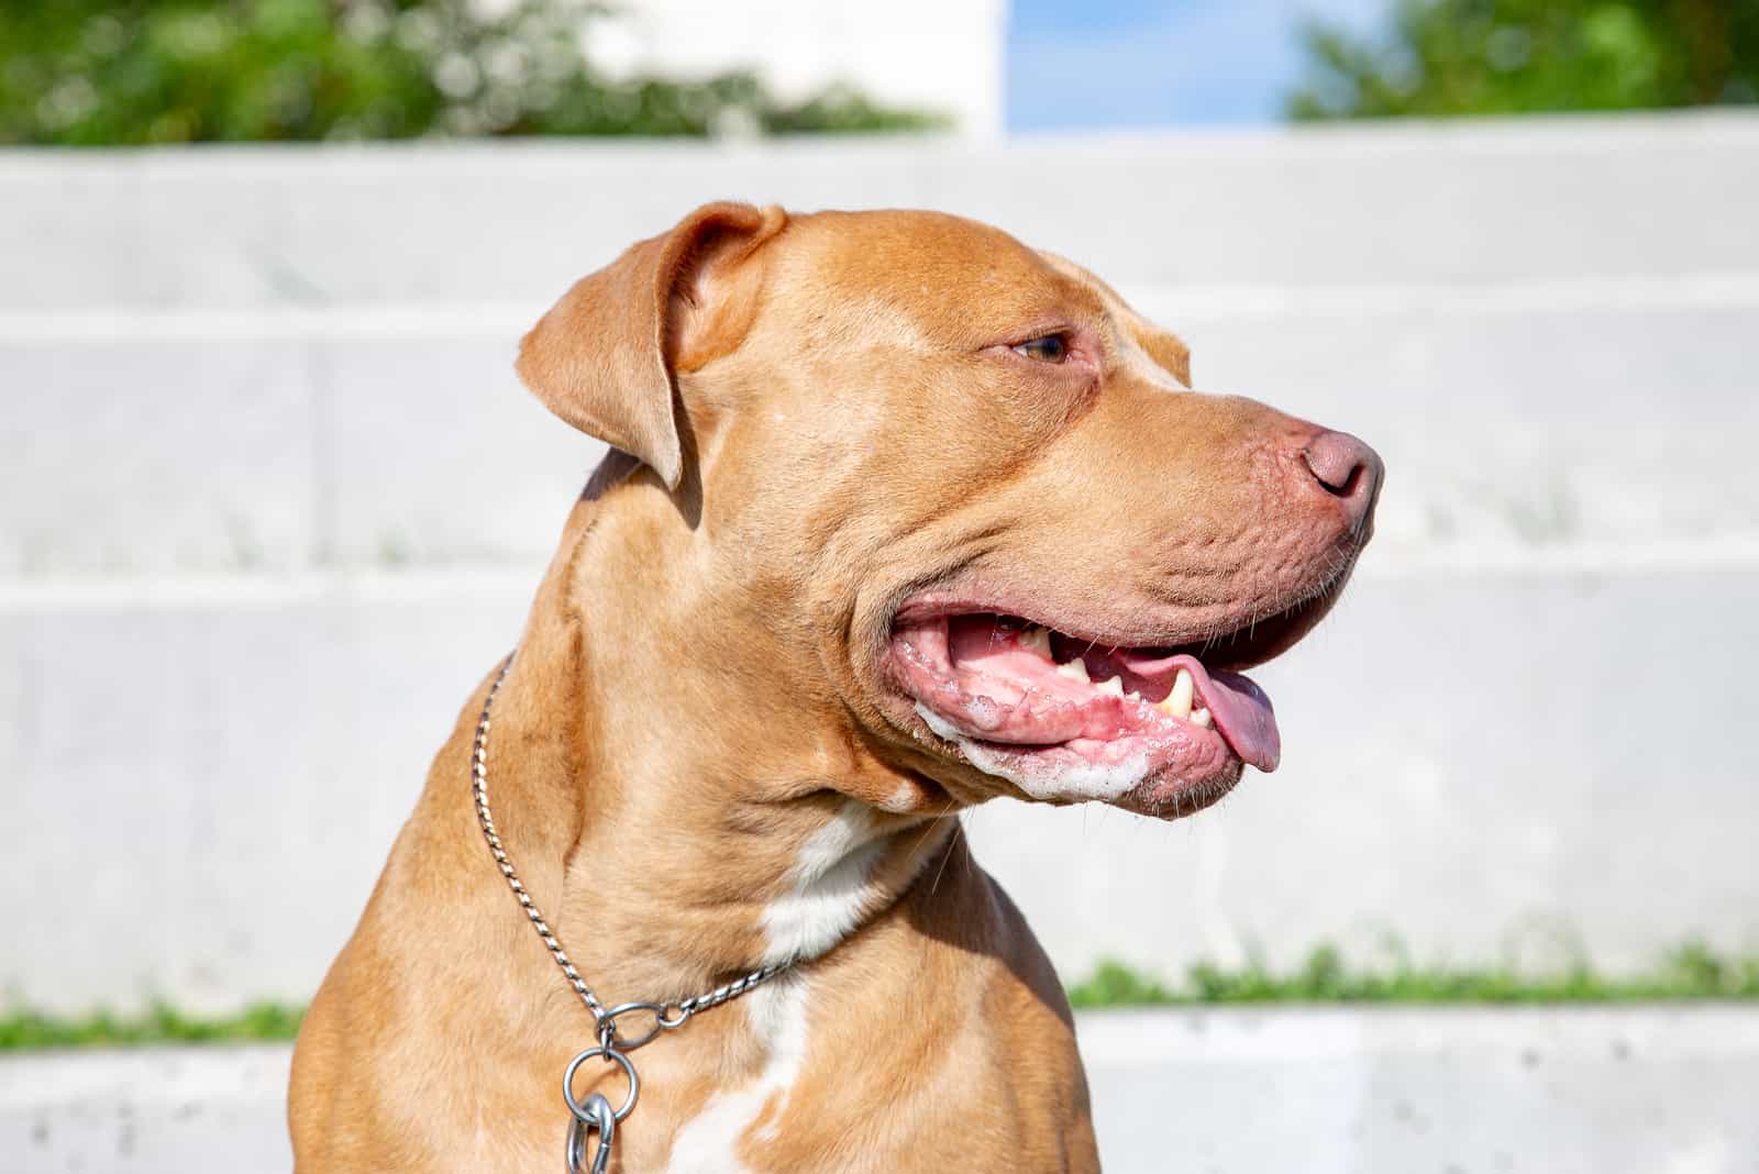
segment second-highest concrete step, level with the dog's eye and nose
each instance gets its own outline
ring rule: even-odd
[[[1200,387],[1383,452],[1383,555],[1759,540],[1759,278],[1126,292]],[[602,452],[512,374],[540,311],[0,315],[0,576],[538,568]]]

